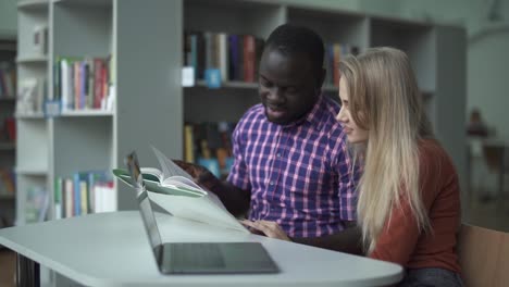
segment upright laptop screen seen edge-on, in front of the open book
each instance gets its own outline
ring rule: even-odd
[[[156,217],[153,216],[152,207],[150,205],[150,199],[148,198],[147,188],[145,187],[141,171],[139,169],[140,165],[135,151],[131,152],[126,157],[125,164],[127,165],[127,170],[131,174],[133,187],[136,189],[139,212],[141,213],[145,229],[147,230],[156,260],[159,263],[162,257],[161,235],[158,229]]]

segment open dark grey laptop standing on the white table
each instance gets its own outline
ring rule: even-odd
[[[126,157],[139,212],[159,270],[163,274],[277,273],[278,267],[260,242],[166,242],[145,187],[136,152]]]

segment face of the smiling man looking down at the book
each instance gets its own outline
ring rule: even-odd
[[[268,48],[260,62],[259,93],[269,121],[285,125],[309,112],[320,96],[319,76],[303,54]]]

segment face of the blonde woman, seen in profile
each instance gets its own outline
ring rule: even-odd
[[[342,77],[339,79],[339,99],[342,101],[342,110],[339,110],[336,120],[342,123],[343,130],[345,130],[349,142],[360,144],[368,141],[368,130],[358,127],[357,123],[353,122],[353,118],[351,117],[349,98],[350,95],[348,93],[346,79],[345,77]]]

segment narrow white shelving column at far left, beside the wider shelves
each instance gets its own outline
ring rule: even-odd
[[[48,54],[35,52],[34,29],[48,25],[49,1],[32,0],[17,3],[17,86],[25,78],[48,78]],[[47,89],[49,90],[49,89]],[[44,92],[46,93],[47,90]],[[26,198],[32,188],[47,188],[48,124],[41,113],[16,113],[16,224],[26,222]]]

